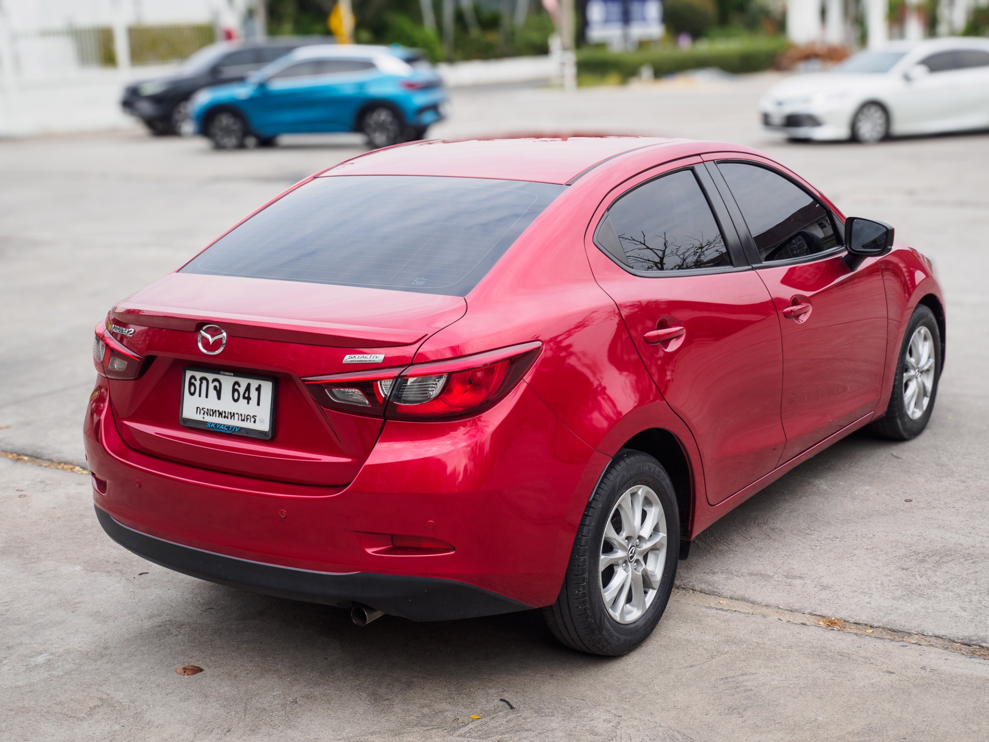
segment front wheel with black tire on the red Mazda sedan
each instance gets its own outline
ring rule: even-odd
[[[920,435],[934,411],[941,364],[941,329],[934,312],[922,304],[907,325],[889,407],[872,430],[892,440]]]

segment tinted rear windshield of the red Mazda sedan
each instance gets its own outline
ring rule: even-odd
[[[565,188],[483,178],[315,178],[182,272],[466,296]]]

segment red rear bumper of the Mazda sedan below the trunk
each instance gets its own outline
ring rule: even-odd
[[[172,557],[160,558],[161,564],[249,590],[364,603],[409,617],[553,603],[587,497],[608,462],[525,382],[479,417],[386,423],[356,478],[343,488],[244,477],[136,451],[121,438],[107,395],[101,380],[84,426],[97,508],[153,543],[225,559],[241,565],[238,570],[247,563],[272,571],[229,577]],[[395,534],[438,539],[453,549],[402,552],[391,548]],[[146,547],[132,550],[159,561]],[[283,589],[265,582],[272,574],[310,577],[303,589]],[[387,591],[374,593],[392,578],[409,578],[403,585],[416,590],[432,586],[425,603],[444,603],[448,594],[465,590],[499,600],[403,607]]]

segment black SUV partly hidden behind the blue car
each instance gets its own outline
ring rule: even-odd
[[[238,82],[298,46],[333,41],[332,37],[281,37],[204,46],[186,59],[175,74],[128,85],[121,105],[154,135],[182,134],[189,126],[189,99],[200,88]]]

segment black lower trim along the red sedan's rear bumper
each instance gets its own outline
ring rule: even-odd
[[[96,517],[112,539],[139,557],[252,593],[342,608],[361,603],[413,621],[473,618],[532,607],[456,580],[372,572],[333,574],[237,559],[149,536],[99,508]]]

